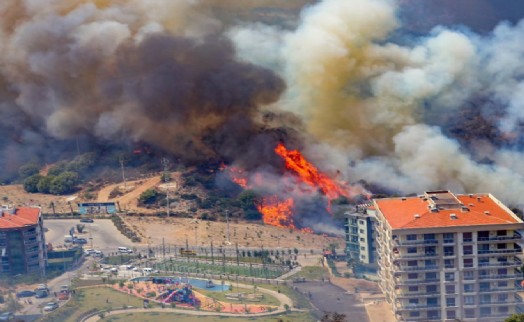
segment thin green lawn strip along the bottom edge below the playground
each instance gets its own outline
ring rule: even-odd
[[[290,312],[286,314],[264,316],[258,318],[247,318],[247,317],[226,317],[226,316],[195,316],[187,314],[176,314],[176,313],[124,313],[114,316],[108,316],[101,321],[119,321],[119,322],[243,322],[243,321],[256,321],[256,322],[314,322],[316,321],[308,312]]]

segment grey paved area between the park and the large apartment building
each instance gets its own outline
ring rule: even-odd
[[[302,294],[309,296],[311,303],[320,312],[338,312],[346,315],[346,322],[366,322],[368,316],[362,301],[355,294],[324,282],[305,282],[293,285]]]

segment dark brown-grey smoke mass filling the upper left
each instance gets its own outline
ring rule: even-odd
[[[277,100],[284,83],[235,59],[207,5],[2,1],[2,133],[23,138],[26,151],[90,136],[146,142],[189,160],[248,153],[252,139],[263,141],[258,108]]]

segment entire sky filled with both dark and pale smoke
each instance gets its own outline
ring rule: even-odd
[[[1,165],[79,136],[243,163],[288,139],[352,182],[519,203],[516,1],[258,1],[1,1]],[[501,139],[453,135],[472,117]]]

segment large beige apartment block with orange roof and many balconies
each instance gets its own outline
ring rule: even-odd
[[[374,200],[380,286],[399,321],[503,321],[524,223],[491,194]]]

